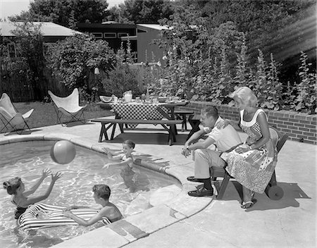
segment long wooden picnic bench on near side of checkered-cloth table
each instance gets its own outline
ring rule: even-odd
[[[120,132],[123,133],[123,125],[136,125],[136,124],[153,124],[153,125],[161,125],[165,130],[168,131],[168,144],[172,145],[173,142],[176,142],[176,124],[182,124],[183,120],[137,120],[137,119],[112,119],[112,118],[94,118],[91,120],[94,123],[101,123],[101,130],[99,134],[99,142],[102,142],[103,136],[105,140],[108,139],[107,130],[111,127],[111,140],[113,140],[114,133],[116,131],[116,125],[118,124],[120,127]],[[106,126],[106,124],[109,124]],[[168,128],[169,126],[170,128]]]

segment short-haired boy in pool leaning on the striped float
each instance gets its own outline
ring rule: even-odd
[[[94,200],[96,203],[102,206],[102,209],[100,209],[100,211],[95,216],[92,216],[92,218],[90,218],[88,221],[85,221],[83,218],[76,216],[70,211],[71,209],[82,208],[82,206],[69,206],[63,210],[64,216],[72,218],[79,225],[84,226],[92,225],[97,221],[101,221],[105,217],[111,223],[123,218],[118,207],[115,204],[109,202],[111,190],[108,185],[94,185],[94,187],[92,187],[92,192],[94,192]]]

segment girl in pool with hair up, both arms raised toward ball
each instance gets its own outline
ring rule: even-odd
[[[39,195],[38,197],[29,197],[31,194],[35,193],[35,191],[39,188],[39,185],[44,181],[46,177],[51,175],[51,184],[49,185],[48,189],[46,190],[45,194]],[[22,182],[21,178],[12,178],[4,182],[4,189],[11,194],[11,202],[16,206],[16,210],[14,216],[16,219],[20,217],[22,213],[25,212],[27,206],[31,204],[35,204],[37,202],[41,202],[42,200],[49,197],[51,194],[51,190],[54,187],[54,184],[58,178],[61,178],[61,173],[57,172],[55,175],[51,173],[51,170],[45,169],[42,171],[42,176],[39,178],[37,183],[30,190],[25,191],[25,185]]]

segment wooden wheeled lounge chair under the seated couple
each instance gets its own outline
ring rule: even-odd
[[[283,134],[282,132],[278,132],[273,127],[270,127],[270,135],[273,143],[276,146],[276,150],[279,152],[282,149],[282,146],[285,144],[288,136]],[[211,167],[211,178],[213,181],[216,181],[217,178],[223,178],[223,181],[220,183],[220,187],[217,188],[218,195],[217,199],[222,199],[223,194],[225,194],[225,189],[228,185],[230,178],[232,178],[224,168]],[[275,171],[273,172],[272,178],[270,182],[268,182],[268,186],[266,186],[265,190],[266,194],[270,199],[279,200],[283,197],[283,190],[281,187],[278,187]]]

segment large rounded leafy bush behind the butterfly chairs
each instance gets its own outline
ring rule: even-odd
[[[98,91],[100,85],[92,80],[94,68],[102,75],[108,75],[116,61],[113,50],[103,40],[95,40],[92,35],[75,35],[56,42],[49,47],[49,66],[61,82],[70,88],[79,87],[87,96]]]

